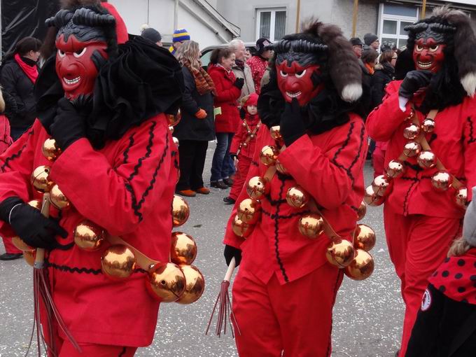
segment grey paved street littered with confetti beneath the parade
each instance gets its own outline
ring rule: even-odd
[[[207,155],[206,183],[213,149],[214,144]],[[367,184],[370,183],[370,165],[365,167],[365,177]],[[189,306],[162,304],[153,345],[139,349],[137,356],[237,356],[229,333],[221,338],[204,335],[226,269],[221,241],[232,208],[223,204],[227,193],[212,189],[211,195],[187,199],[191,214],[181,230],[197,240],[195,265],[205,276],[206,290],[198,302]],[[377,246],[371,252],[376,267],[365,281],[344,278],[334,309],[333,357],[390,357],[398,349],[403,304],[384,241],[381,207],[368,209],[363,223],[377,233]],[[26,262],[0,262],[0,357],[25,354],[33,321],[31,286],[31,267]]]

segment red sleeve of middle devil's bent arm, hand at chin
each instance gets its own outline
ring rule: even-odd
[[[353,192],[367,153],[363,120],[337,127],[325,151],[303,135],[279,154],[279,161],[317,204],[336,209]]]

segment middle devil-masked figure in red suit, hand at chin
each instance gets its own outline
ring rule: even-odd
[[[326,36],[330,33],[335,37]],[[335,46],[344,49],[340,63],[349,73],[342,78],[333,72],[323,79],[319,69],[336,63]],[[281,171],[264,181],[267,190],[255,201],[260,204],[260,218],[246,239],[237,235],[239,216],[235,215],[251,194],[241,191],[224,239],[227,260],[234,257],[239,263],[243,251],[233,285],[233,311],[240,331],[235,334],[237,348],[246,357],[330,356],[332,307],[343,274],[325,258],[329,237],[322,233],[310,239],[298,230],[309,207],[297,209],[286,201],[288,190],[299,186],[315,200],[337,234],[352,240],[367,151],[363,120],[351,113],[353,105],[348,103],[360,96],[360,69],[339,29],[320,22],[304,34],[285,36],[274,43],[274,51],[271,80],[258,99],[265,125],[256,140],[247,185],[251,177],[266,177],[269,172],[260,149],[277,145],[270,135],[270,128],[276,133],[276,125],[286,144],[276,155],[276,169]],[[337,90],[330,90],[327,80]],[[349,86],[352,90],[346,92]],[[321,104],[328,100],[339,102],[338,112],[325,113]]]

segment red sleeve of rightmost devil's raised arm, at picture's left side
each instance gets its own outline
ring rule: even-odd
[[[385,88],[383,102],[367,116],[367,131],[369,137],[376,141],[388,141],[393,132],[409,116],[411,109],[407,103],[406,110],[402,111],[398,104],[398,88],[400,82],[388,83]]]

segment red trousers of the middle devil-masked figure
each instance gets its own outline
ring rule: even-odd
[[[342,272],[328,264],[279,285],[240,268],[233,283],[235,336],[242,357],[328,357],[332,307]]]

